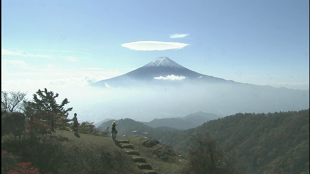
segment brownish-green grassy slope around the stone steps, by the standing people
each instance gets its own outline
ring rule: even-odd
[[[113,142],[112,138],[101,137],[90,134],[80,134],[80,137],[75,136],[73,131],[62,131],[57,130],[56,134],[67,137],[69,139],[68,143],[84,144],[84,145],[104,145],[107,150],[113,150],[115,148],[120,148]],[[140,138],[140,137],[128,137],[128,138],[117,138],[117,140],[129,140],[129,144],[134,145],[134,149],[123,149],[128,150],[139,150],[140,157],[145,157],[146,162],[150,163],[153,170],[157,171],[158,174],[180,174],[183,169],[187,167],[187,161],[180,158],[176,154],[170,156],[170,161],[165,162],[161,160],[156,154],[158,153],[168,153],[170,150],[166,145],[158,144],[153,147],[145,147],[142,145],[146,140],[151,140],[151,138]],[[132,156],[132,155],[130,155]],[[132,167],[137,173],[143,173],[146,170],[139,170],[137,163],[132,162]]]

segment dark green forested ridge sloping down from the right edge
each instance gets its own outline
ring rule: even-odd
[[[156,137],[176,151],[189,149],[194,134],[209,133],[233,154],[246,174],[300,174],[309,172],[309,109],[268,114],[238,113],[172,136]],[[170,138],[168,138],[170,137]],[[308,174],[308,173],[307,173]]]

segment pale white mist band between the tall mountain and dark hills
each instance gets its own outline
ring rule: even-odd
[[[246,84],[241,84],[240,89],[236,89],[238,86],[216,84],[139,88],[88,87],[77,95],[66,95],[63,89],[59,92],[53,91],[60,94],[59,100],[64,98],[69,100],[70,103],[67,104],[67,107],[73,107],[69,117],[73,117],[73,113],[78,113],[78,119],[94,123],[106,118],[131,118],[136,121],[148,122],[155,118],[183,117],[200,111],[218,116],[229,116],[237,113],[302,110],[309,107],[309,90],[268,87],[272,90],[264,92],[260,89],[262,86],[254,85],[252,90],[242,87],[244,85]],[[290,92],[281,92],[279,94],[282,96],[279,96],[277,92],[274,92],[276,89],[289,90]],[[52,89],[47,88],[47,90]],[[81,89],[73,90],[82,91]],[[302,92],[305,96],[297,96]],[[286,94],[287,96],[285,96]],[[300,103],[304,104],[294,105]]]

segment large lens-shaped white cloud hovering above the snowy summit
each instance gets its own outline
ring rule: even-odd
[[[160,41],[138,41],[132,43],[124,43],[122,46],[138,51],[155,51],[181,49],[188,45],[187,43],[160,42]]]

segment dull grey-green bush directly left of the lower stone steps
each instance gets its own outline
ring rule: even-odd
[[[62,173],[76,174],[133,174],[131,160],[122,150],[109,151],[104,146],[76,145],[68,147],[68,160]]]

